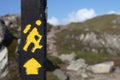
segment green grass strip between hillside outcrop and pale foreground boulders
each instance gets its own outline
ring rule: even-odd
[[[117,56],[112,56],[108,53],[90,53],[90,52],[76,52],[77,56],[76,59],[78,58],[83,58],[86,60],[87,63],[89,64],[95,64],[103,60],[107,59],[113,59],[116,58]]]

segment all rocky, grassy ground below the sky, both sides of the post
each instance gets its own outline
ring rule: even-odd
[[[16,14],[0,19],[0,69],[6,61],[0,75],[9,72],[3,80],[19,80],[21,19]],[[64,27],[48,24],[47,52],[48,80],[119,80],[120,15],[101,15]]]

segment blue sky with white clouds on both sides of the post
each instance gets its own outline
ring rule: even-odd
[[[97,15],[120,12],[119,0],[47,0],[48,22],[81,22]],[[20,0],[0,0],[0,15],[20,14]]]

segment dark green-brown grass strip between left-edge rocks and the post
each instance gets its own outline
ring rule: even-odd
[[[13,39],[12,43],[8,46],[8,61],[9,73],[5,80],[20,80],[18,72],[17,55],[15,53],[18,46],[17,39]]]

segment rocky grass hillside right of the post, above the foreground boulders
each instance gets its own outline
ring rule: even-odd
[[[76,58],[82,57],[92,63],[116,57],[119,59],[119,31],[120,15],[115,14],[65,27],[52,27],[48,33],[48,53],[60,55],[74,52]]]

